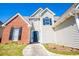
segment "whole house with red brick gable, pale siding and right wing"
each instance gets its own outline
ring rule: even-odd
[[[17,13],[2,25],[1,42],[56,43],[79,48],[78,13],[77,4],[73,4],[61,17],[48,8],[39,8],[31,16]]]

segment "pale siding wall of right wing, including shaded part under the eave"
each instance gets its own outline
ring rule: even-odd
[[[55,28],[56,43],[79,48],[79,32],[74,17],[71,17]]]

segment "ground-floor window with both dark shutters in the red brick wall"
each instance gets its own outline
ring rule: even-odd
[[[21,39],[22,28],[11,28],[10,40],[18,41]]]

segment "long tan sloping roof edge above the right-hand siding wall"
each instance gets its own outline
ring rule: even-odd
[[[73,16],[74,9],[76,8],[77,3],[74,3],[59,19],[58,21],[53,25],[53,28],[57,27],[61,23],[63,23],[65,20],[67,20],[69,17]]]

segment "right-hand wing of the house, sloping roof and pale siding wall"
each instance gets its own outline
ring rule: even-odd
[[[70,7],[53,25],[55,43],[79,48],[79,5]]]

